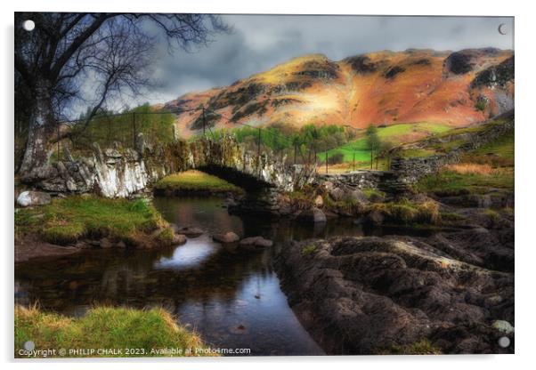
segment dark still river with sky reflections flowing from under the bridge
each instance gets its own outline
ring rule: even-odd
[[[167,221],[206,232],[173,248],[88,250],[17,265],[15,302],[39,302],[75,317],[93,304],[164,307],[215,348],[249,349],[254,356],[324,354],[288,307],[273,259],[288,240],[370,232],[349,219],[314,227],[230,215],[219,197],[156,197],[154,204]],[[241,252],[210,237],[229,230],[274,245]]]

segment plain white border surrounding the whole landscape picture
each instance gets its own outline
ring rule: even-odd
[[[480,1],[447,0],[441,2],[404,1],[340,1],[330,0],[314,2],[289,0],[253,1],[141,1],[113,2],[110,0],[93,0],[92,2],[37,1],[20,0],[2,3],[2,109],[0,135],[3,153],[1,158],[2,181],[0,194],[4,202],[2,212],[3,252],[3,294],[0,351],[1,360],[7,368],[39,366],[41,369],[85,369],[93,367],[121,366],[131,369],[146,369],[149,363],[158,368],[207,368],[218,369],[252,368],[273,369],[282,364],[313,369],[325,369],[331,363],[337,368],[396,368],[416,369],[434,367],[435,369],[452,369],[453,367],[478,366],[486,369],[505,369],[515,366],[528,367],[534,363],[532,345],[536,334],[536,316],[533,313],[534,300],[534,265],[536,263],[536,244],[532,235],[534,197],[532,196],[535,182],[534,138],[536,138],[536,55],[534,54],[534,12],[530,2],[514,1]],[[396,14],[396,15],[489,15],[516,17],[516,355],[503,356],[441,356],[441,357],[325,357],[325,358],[189,358],[189,359],[141,359],[133,360],[77,360],[76,364],[68,361],[45,361],[16,364],[12,361],[12,302],[13,302],[13,253],[12,253],[12,163],[13,163],[13,12],[15,11],[70,11],[70,12],[221,12],[221,13],[309,13],[309,14]],[[126,363],[125,363],[126,362]],[[112,363],[115,365],[106,365]],[[280,365],[281,364],[281,365]],[[152,365],[151,365],[152,366]]]

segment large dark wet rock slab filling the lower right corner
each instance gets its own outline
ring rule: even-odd
[[[513,351],[499,347],[506,332],[495,328],[513,338],[510,327],[490,323],[514,318],[514,274],[459,261],[429,239],[291,242],[275,268],[291,308],[329,354],[389,353],[423,340],[443,353]],[[491,293],[502,299],[490,309]]]

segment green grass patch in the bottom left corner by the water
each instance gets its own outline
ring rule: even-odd
[[[35,350],[56,350],[56,357],[154,357],[152,349],[202,349],[206,348],[199,336],[175,324],[165,310],[134,310],[126,308],[98,307],[89,310],[81,318],[67,318],[46,313],[37,308],[15,306],[15,357],[24,343],[32,341]],[[89,356],[69,351],[65,356],[59,350],[95,350]],[[98,349],[122,350],[120,354],[100,355]],[[128,354],[126,349],[140,349]],[[191,356],[195,356],[192,351]],[[187,356],[178,354],[176,356]]]

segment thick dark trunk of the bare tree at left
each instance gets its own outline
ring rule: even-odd
[[[53,114],[51,97],[51,84],[39,81],[33,94],[33,113],[28,125],[28,142],[22,163],[20,165],[20,178],[23,181],[39,181],[45,178],[48,166],[49,143],[53,139],[56,122]]]

